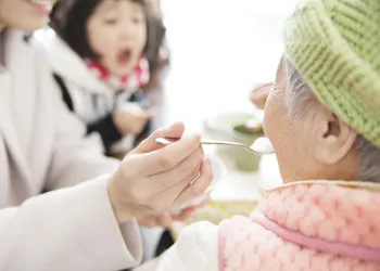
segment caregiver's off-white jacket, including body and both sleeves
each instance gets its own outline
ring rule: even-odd
[[[43,55],[0,35],[0,270],[119,270],[142,257],[138,225],[117,225],[106,176],[117,163],[67,112]],[[1,46],[0,46],[1,47]],[[74,188],[63,189],[98,177]],[[39,195],[42,191],[53,191]]]

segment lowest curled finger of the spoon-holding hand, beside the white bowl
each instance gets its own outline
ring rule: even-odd
[[[213,170],[211,162],[203,162],[201,166],[201,173],[198,179],[185,189],[176,198],[174,205],[182,205],[200,195],[206,191],[213,180]]]

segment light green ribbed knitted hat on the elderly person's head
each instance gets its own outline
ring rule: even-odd
[[[318,100],[380,146],[380,0],[305,0],[286,54]]]

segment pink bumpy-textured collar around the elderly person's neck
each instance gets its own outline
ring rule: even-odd
[[[328,182],[270,191],[254,222],[307,248],[380,263],[380,193]]]

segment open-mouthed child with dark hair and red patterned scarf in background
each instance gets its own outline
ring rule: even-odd
[[[100,133],[107,154],[127,151],[152,116],[140,88],[164,36],[160,22],[142,0],[61,1],[51,14],[56,35],[43,44],[54,78],[68,108],[88,133]]]

